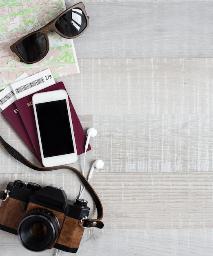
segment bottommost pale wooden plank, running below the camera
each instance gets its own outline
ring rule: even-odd
[[[17,236],[0,230],[4,256],[29,255]],[[10,248],[8,248],[8,246]],[[77,255],[88,256],[211,256],[213,229],[86,229]],[[30,252],[31,256],[53,256],[56,250]],[[61,252],[60,255],[69,255]]]

